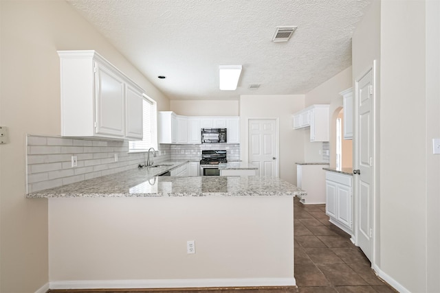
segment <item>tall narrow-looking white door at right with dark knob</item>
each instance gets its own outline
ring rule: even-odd
[[[354,180],[357,186],[356,239],[366,257],[373,255],[373,69],[355,82],[357,134],[355,135]]]

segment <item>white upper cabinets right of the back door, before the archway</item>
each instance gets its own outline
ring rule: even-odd
[[[310,141],[329,141],[329,108],[316,104],[300,110],[294,114],[294,129],[310,128]]]

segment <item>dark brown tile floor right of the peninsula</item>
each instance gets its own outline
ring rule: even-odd
[[[396,292],[376,277],[350,235],[329,222],[325,204],[294,199],[295,279],[300,293]]]

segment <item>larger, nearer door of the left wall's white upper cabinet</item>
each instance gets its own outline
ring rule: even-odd
[[[116,73],[96,62],[96,133],[124,137],[125,83]],[[80,119],[81,117],[78,117]]]

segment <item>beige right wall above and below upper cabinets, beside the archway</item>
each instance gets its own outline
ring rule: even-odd
[[[342,106],[342,96],[339,94],[341,91],[349,89],[352,86],[351,67],[344,69],[337,75],[333,76],[320,84],[315,89],[309,91],[305,95],[305,106],[311,106],[313,104],[330,104],[329,114],[329,139],[330,139],[330,165],[336,166],[336,116],[339,109]],[[306,137],[310,137],[310,130],[305,130]],[[320,162],[322,161],[322,155],[319,151],[322,149],[322,143],[311,142],[309,139],[304,143],[304,160],[305,162]]]

